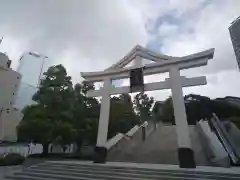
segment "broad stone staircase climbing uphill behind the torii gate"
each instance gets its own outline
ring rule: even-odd
[[[192,149],[198,166],[209,166],[195,126],[189,126]],[[137,132],[130,140],[124,139],[108,152],[108,161],[178,165],[176,126],[161,125],[146,141]]]

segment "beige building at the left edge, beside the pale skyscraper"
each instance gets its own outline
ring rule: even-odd
[[[22,113],[13,107],[21,74],[10,68],[11,61],[0,53],[0,141],[16,141],[16,127]]]

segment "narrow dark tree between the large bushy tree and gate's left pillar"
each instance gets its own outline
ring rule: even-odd
[[[96,98],[87,97],[87,91],[94,89],[94,84],[88,81],[83,81],[74,87],[72,112],[74,127],[77,130],[78,151],[83,142],[91,144],[96,142],[100,104]]]

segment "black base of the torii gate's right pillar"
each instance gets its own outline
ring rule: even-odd
[[[180,168],[196,168],[194,151],[190,148],[178,149],[178,161]]]

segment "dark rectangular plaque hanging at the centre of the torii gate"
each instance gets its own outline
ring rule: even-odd
[[[143,68],[132,69],[130,71],[130,92],[139,91],[144,91]]]

